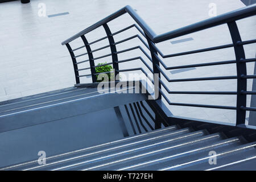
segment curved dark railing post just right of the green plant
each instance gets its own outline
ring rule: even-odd
[[[113,68],[115,69],[115,81],[119,81],[119,75],[118,75],[118,57],[117,57],[117,48],[115,47],[115,41],[114,38],[112,36],[112,32],[109,29],[108,24],[104,23],[102,25],[106,31],[106,35],[108,36],[109,39],[109,44],[110,44],[110,49],[111,49],[111,53],[112,53],[112,64],[113,64]]]

